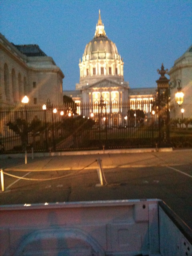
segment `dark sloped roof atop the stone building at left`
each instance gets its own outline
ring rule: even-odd
[[[13,44],[13,43],[12,43]],[[38,44],[13,44],[22,54],[28,57],[47,56],[38,46]]]

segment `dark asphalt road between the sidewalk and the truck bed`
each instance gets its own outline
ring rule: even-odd
[[[40,180],[4,175],[6,191],[0,193],[1,205],[158,198],[192,229],[191,165],[104,169],[104,186],[97,185],[97,169],[9,173]],[[47,178],[53,180],[42,181]]]

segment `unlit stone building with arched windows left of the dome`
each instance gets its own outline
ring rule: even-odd
[[[17,106],[25,95],[29,106],[42,106],[48,98],[61,105],[63,78],[38,45],[14,45],[0,34],[0,106]]]

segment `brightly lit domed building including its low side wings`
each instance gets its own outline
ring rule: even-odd
[[[142,109],[146,113],[151,111],[148,103],[153,100],[156,88],[131,89],[124,81],[123,66],[115,43],[106,36],[99,11],[94,38],[86,45],[79,62],[80,81],[75,91],[63,93],[76,103],[97,105],[102,99],[111,114],[121,111],[117,104],[131,104],[133,110]]]

